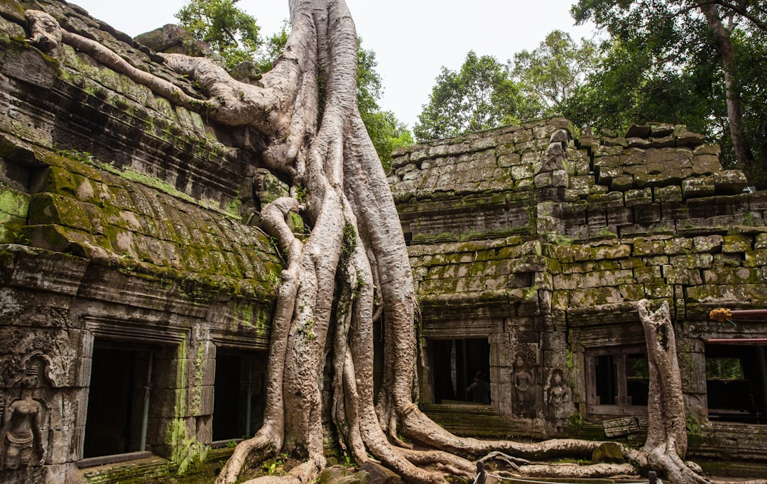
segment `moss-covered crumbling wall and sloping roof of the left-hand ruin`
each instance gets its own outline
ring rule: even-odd
[[[204,97],[81,8],[35,8]],[[0,453],[0,480],[183,472],[209,451],[217,352],[268,347],[282,262],[251,223],[258,197],[287,187],[263,179],[256,133],[222,130],[83,52],[44,52],[28,36],[21,3],[0,2],[0,413],[11,416],[28,394],[40,427],[20,459]],[[236,137],[252,149],[230,147]],[[156,460],[135,476],[76,466],[94,354],[113,348],[150,378],[134,378],[141,395],[131,404],[143,405],[146,385],[146,454]]]

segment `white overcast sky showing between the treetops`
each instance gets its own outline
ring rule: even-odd
[[[576,0],[347,0],[363,47],[376,53],[384,84],[380,101],[409,127],[418,119],[442,66],[458,70],[470,50],[505,62],[538,47],[560,29],[575,39],[592,38],[593,25],[574,26]],[[186,0],[71,0],[93,17],[135,37],[169,23]],[[288,18],[286,0],[240,0],[262,33]]]

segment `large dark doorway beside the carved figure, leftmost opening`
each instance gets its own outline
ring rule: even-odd
[[[96,341],[83,457],[146,450],[153,351]]]

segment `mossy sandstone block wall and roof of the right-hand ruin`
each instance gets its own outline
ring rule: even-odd
[[[639,441],[646,409],[627,396],[597,402],[593,365],[643,351],[634,301],[669,301],[687,410],[693,427],[702,423],[696,448],[756,458],[764,440],[732,443],[736,453],[712,443],[737,424],[708,418],[705,348],[767,337],[764,320],[709,320],[713,308],[767,304],[767,198],[744,193],[742,172],[724,170],[718,148],[683,127],[609,134],[552,119],[395,153],[390,183],[423,311],[425,401],[435,394],[430,345],[487,338],[502,432],[604,436],[630,416],[634,430],[614,437]],[[518,385],[525,365],[532,395]],[[551,396],[555,373],[572,406]]]

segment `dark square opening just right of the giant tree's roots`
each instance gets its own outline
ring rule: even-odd
[[[489,382],[490,344],[484,339],[428,341],[434,375],[434,402],[471,402],[466,391],[476,374]]]

